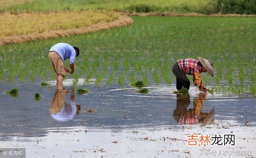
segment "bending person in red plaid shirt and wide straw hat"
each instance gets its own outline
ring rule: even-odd
[[[198,86],[200,91],[209,93],[201,81],[200,73],[208,72],[214,76],[214,68],[211,61],[198,57],[199,61],[195,59],[180,59],[173,65],[173,73],[176,75],[176,88],[180,91],[182,88],[189,89],[190,82],[186,74],[193,75],[193,83]]]

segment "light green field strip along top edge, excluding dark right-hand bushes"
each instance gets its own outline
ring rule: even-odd
[[[10,0],[8,0],[10,1]],[[59,12],[84,10],[114,10],[119,12],[202,12],[209,0],[34,0],[0,9],[0,12]]]

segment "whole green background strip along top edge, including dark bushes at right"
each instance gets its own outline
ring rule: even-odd
[[[118,12],[179,12],[203,14],[255,14],[255,0],[34,0],[0,9],[0,12],[59,12],[83,10]]]

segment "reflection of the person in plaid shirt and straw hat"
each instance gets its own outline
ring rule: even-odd
[[[214,122],[214,112],[212,109],[209,113],[202,113],[201,107],[206,97],[205,93],[199,93],[198,97],[194,98],[193,109],[188,109],[190,104],[189,94],[177,94],[176,109],[173,112],[174,119],[179,124],[196,124],[202,122],[201,126]]]

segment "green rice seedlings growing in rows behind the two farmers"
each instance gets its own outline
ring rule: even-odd
[[[94,78],[96,85],[124,86],[137,80],[147,85],[174,84],[172,65],[198,56],[214,61],[215,77],[202,75],[207,85],[255,95],[255,17],[133,17],[125,28],[73,37],[0,47],[0,79],[54,79],[48,50],[57,42],[81,49],[74,85]],[[26,58],[25,58],[26,57]],[[68,62],[65,62],[68,65]],[[218,89],[224,91],[225,89]]]

